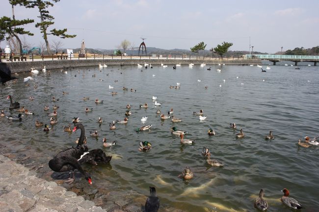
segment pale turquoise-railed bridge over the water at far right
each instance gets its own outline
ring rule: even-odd
[[[280,55],[280,54],[246,54],[247,59],[261,59],[269,60],[276,65],[279,61],[292,61],[297,66],[298,62],[313,62],[314,66],[317,66],[319,62],[319,56],[315,55]]]

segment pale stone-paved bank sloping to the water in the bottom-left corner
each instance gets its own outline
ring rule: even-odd
[[[0,212],[106,212],[0,155]]]

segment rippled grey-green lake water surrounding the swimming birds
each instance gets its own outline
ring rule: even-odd
[[[113,155],[110,165],[84,166],[92,176],[93,186],[99,187],[108,180],[119,190],[144,195],[149,194],[149,186],[155,186],[161,207],[187,212],[255,211],[253,202],[261,188],[268,198],[268,212],[290,212],[279,201],[283,195],[280,190],[288,188],[291,196],[306,208],[303,211],[318,210],[319,148],[297,144],[299,138],[319,134],[318,67],[300,66],[300,70],[295,70],[291,66],[270,66],[267,72],[256,66],[212,66],[212,71],[207,70],[209,65],[205,68],[195,65],[193,69],[182,65],[177,70],[171,66],[153,67],[145,70],[136,66],[103,69],[97,66],[67,70],[67,74],[51,71],[33,75],[34,81],[29,81],[28,87],[22,81],[30,73],[20,74],[16,84],[1,86],[0,109],[6,115],[18,114],[8,109],[6,97],[11,94],[13,101],[19,101],[35,115],[24,115],[21,122],[0,118],[1,142],[6,145],[21,142],[53,157],[63,148],[75,145],[80,132],[63,132],[63,126],[80,117],[90,149],[103,148],[104,137],[117,141],[116,146],[104,148],[106,155]],[[217,68],[222,71],[217,72]],[[169,88],[177,82],[181,83],[181,89]],[[109,90],[109,85],[114,89]],[[123,91],[123,86],[129,91]],[[136,92],[131,92],[131,88]],[[63,91],[69,94],[63,95]],[[111,95],[112,91],[118,94]],[[29,96],[35,99],[30,101]],[[59,101],[52,102],[53,96]],[[84,96],[90,99],[83,101]],[[152,96],[158,96],[162,105],[156,107]],[[95,104],[95,98],[104,103]],[[149,108],[139,109],[146,102]],[[125,118],[128,103],[132,106],[129,122],[109,130],[109,122]],[[58,123],[47,134],[41,127],[36,128],[34,122],[49,124],[47,113],[53,112],[54,104],[59,106]],[[50,107],[49,111],[43,110],[45,105]],[[93,111],[85,113],[85,107]],[[170,108],[176,118],[183,118],[182,122],[160,120],[156,110],[166,115]],[[207,116],[204,122],[192,114],[200,109]],[[145,125],[140,121],[145,116],[148,117],[145,124],[152,124],[151,130],[136,133],[136,128]],[[100,126],[99,117],[104,119]],[[230,122],[236,122],[238,129],[231,129]],[[170,133],[173,126],[186,130],[186,139],[194,139],[196,143],[181,144],[180,138]],[[210,127],[215,136],[207,134]],[[240,128],[245,137],[236,139]],[[98,139],[89,134],[95,129]],[[270,130],[275,139],[266,141]],[[151,142],[152,149],[138,151],[140,141]],[[210,149],[212,159],[225,165],[208,165],[201,154],[204,146]],[[43,158],[38,160],[47,164]],[[186,166],[194,172],[189,181],[178,177]],[[77,180],[85,182],[83,178]]]

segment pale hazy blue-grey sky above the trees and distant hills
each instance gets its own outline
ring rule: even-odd
[[[0,0],[1,16],[12,17],[8,0]],[[204,41],[206,49],[223,41],[231,50],[275,53],[294,47],[319,46],[319,0],[61,0],[49,7],[55,28],[76,38],[60,39],[65,48],[114,49],[124,39],[139,46],[189,49]],[[36,9],[15,7],[16,19],[38,22]],[[43,38],[34,24],[29,43]],[[55,36],[50,41],[57,41]],[[1,47],[5,46],[5,41]]]

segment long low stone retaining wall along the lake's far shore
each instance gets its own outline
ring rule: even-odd
[[[136,65],[137,63],[143,65],[144,62],[152,65],[160,65],[161,63],[165,65],[174,65],[179,64],[181,65],[188,65],[193,63],[195,65],[199,65],[201,63],[206,63],[206,66],[209,65],[218,65],[226,64],[226,65],[239,65],[239,64],[261,64],[261,60],[259,59],[239,59],[239,60],[173,60],[173,59],[147,59],[147,60],[140,60],[140,59],[113,59],[113,60],[102,60],[102,59],[76,59],[73,60],[44,60],[44,61],[27,61],[27,62],[8,62],[6,63],[11,73],[16,72],[26,72],[31,71],[31,68],[41,71],[44,66],[46,66],[47,70],[53,69],[65,69],[65,68],[75,68],[75,67],[90,67],[90,66],[98,66],[99,64],[106,64],[106,65]]]

